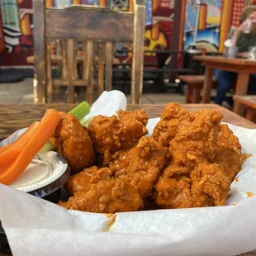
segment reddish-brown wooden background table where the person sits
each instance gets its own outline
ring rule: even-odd
[[[235,95],[246,95],[249,83],[249,74],[256,73],[256,61],[249,59],[226,59],[220,56],[194,56],[194,59],[206,65],[206,78],[203,86],[202,103],[209,103],[211,100],[211,84],[214,69],[223,69],[238,73]],[[243,107],[235,102],[233,111],[241,115]]]

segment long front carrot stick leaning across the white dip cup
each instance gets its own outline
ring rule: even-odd
[[[43,145],[50,139],[54,133],[56,126],[59,124],[60,113],[54,109],[49,109],[45,112],[45,116],[40,121],[40,125],[31,135],[30,140],[24,145],[21,154],[12,166],[5,169],[1,173],[0,169],[0,183],[8,185],[15,181],[21,173],[31,163],[34,156],[40,151]]]

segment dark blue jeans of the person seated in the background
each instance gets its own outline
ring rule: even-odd
[[[217,88],[217,95],[214,99],[216,104],[221,105],[225,100],[225,94],[230,91],[232,84],[236,81],[237,73],[216,69],[215,70],[216,80],[219,82]],[[256,74],[251,74],[249,77],[248,94],[256,93]]]

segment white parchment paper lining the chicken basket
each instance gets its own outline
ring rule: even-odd
[[[110,104],[107,99],[104,101]],[[97,102],[98,106],[104,101]],[[126,108],[126,102],[121,104]],[[104,113],[108,116],[117,110],[116,105],[108,105],[108,109]],[[157,121],[149,120],[149,134]],[[243,152],[253,156],[232,183],[226,206],[107,216],[66,211],[0,185],[0,220],[12,254],[227,256],[256,249],[256,197],[248,197],[248,192],[256,195],[256,130],[229,126]]]

